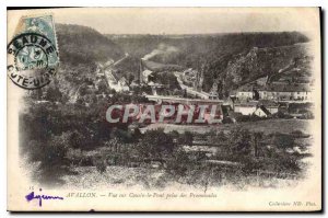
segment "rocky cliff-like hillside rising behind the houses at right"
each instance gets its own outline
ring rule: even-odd
[[[262,77],[281,73],[283,79],[298,71],[300,77],[311,76],[308,44],[296,44],[272,48],[251,48],[248,53],[234,56],[226,66],[224,87],[230,91]],[[297,77],[297,74],[294,74]],[[272,77],[273,79],[273,77]]]

